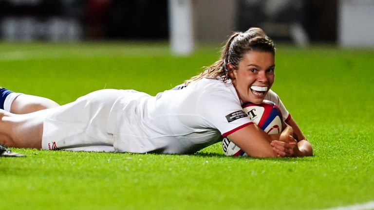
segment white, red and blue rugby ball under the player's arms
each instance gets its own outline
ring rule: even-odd
[[[281,110],[273,102],[263,100],[262,104],[248,103],[243,105],[243,111],[247,114],[247,117],[265,131],[265,133],[269,135],[281,133]],[[222,140],[222,150],[227,156],[248,156],[227,137],[224,137]]]

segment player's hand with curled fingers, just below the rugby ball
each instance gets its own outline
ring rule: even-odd
[[[291,135],[284,136],[280,140],[273,140],[270,145],[278,157],[298,157],[300,154],[298,142]]]

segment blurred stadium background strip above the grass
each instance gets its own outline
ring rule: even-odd
[[[171,40],[179,32],[189,53],[196,42],[259,26],[297,45],[374,46],[373,11],[374,0],[0,0],[0,38]]]

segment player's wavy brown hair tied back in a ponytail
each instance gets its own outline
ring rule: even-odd
[[[220,78],[226,82],[230,79],[227,64],[231,63],[234,69],[238,69],[239,61],[248,51],[271,52],[275,54],[275,45],[261,28],[250,28],[243,33],[235,32],[224,45],[221,58],[200,74],[186,80],[185,86],[202,78]]]

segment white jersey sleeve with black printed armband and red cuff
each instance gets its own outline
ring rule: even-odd
[[[223,137],[253,124],[230,90],[219,89],[203,94],[199,101],[202,105],[200,115],[206,119],[207,126],[218,129]]]

